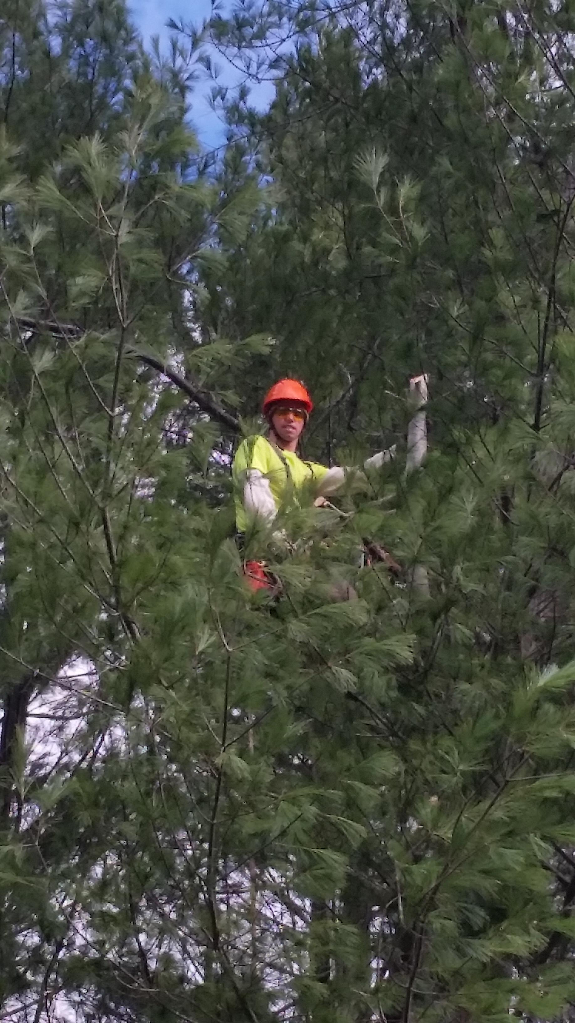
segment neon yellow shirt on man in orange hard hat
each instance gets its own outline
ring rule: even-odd
[[[325,465],[316,461],[303,461],[295,451],[282,450],[279,455],[265,437],[247,437],[237,448],[231,470],[236,488],[235,521],[240,533],[245,533],[248,526],[241,495],[244,475],[250,469],[258,469],[269,480],[269,489],[277,509],[286,502],[299,503],[299,496],[306,484],[319,482],[327,473]]]

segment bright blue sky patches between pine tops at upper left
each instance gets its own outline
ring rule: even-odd
[[[161,40],[167,40],[170,32],[166,29],[168,18],[173,17],[179,20],[201,24],[210,14],[210,0],[128,0],[128,7],[132,12],[134,21],[142,34],[144,43],[147,43],[151,36],[159,35]],[[222,66],[223,59],[216,54],[217,63]],[[230,68],[222,69],[224,81],[232,83],[236,74]],[[272,88],[258,90],[262,104],[271,98]],[[223,126],[213,110],[210,109],[206,101],[206,95],[210,92],[210,84],[197,85],[194,97],[192,98],[191,121],[200,141],[206,148],[220,145],[225,139]]]

